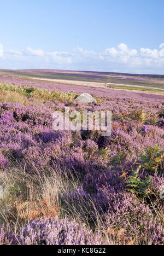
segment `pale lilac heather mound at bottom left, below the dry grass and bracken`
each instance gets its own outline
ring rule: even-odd
[[[0,229],[0,245],[106,245],[98,233],[93,233],[68,219],[36,219],[22,226],[14,235],[9,228]]]

